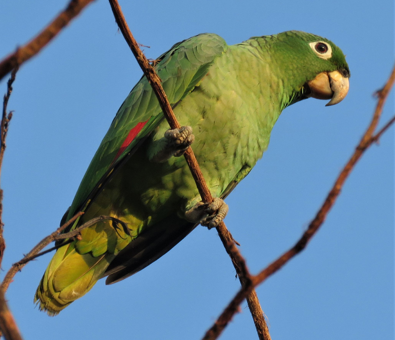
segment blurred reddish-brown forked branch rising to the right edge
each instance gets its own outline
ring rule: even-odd
[[[270,275],[273,275],[278,269],[280,269],[284,264],[286,264],[289,260],[291,260],[295,255],[299,254],[305,247],[311,238],[316,234],[316,231],[325,221],[326,215],[332,208],[335,203],[337,197],[340,194],[340,191],[344,185],[344,182],[350,175],[351,171],[354,169],[356,162],[360,159],[361,155],[364,151],[366,151],[377,139],[395,122],[395,117],[393,117],[385,126],[376,134],[373,135],[374,131],[377,128],[377,124],[379,122],[381,113],[383,111],[384,104],[388,98],[388,95],[391,91],[395,82],[395,67],[387,80],[385,86],[377,92],[378,94],[378,102],[376,106],[376,110],[373,114],[373,118],[362,136],[354,154],[351,156],[350,160],[344,166],[343,170],[339,174],[335,184],[332,189],[329,191],[326,196],[325,201],[323,202],[321,208],[318,210],[316,217],[310,223],[308,229],[304,232],[299,241],[287,252],[281,255],[276,261],[272,262],[263,269],[258,275],[252,277],[252,284],[245,285],[242,287],[233,298],[233,300],[228,304],[228,306],[224,309],[219,318],[215,321],[214,325],[206,332],[203,340],[215,340],[217,339],[225,327],[228,325],[229,321],[232,319],[233,315],[237,312],[238,306],[244,300],[244,298],[250,294],[253,287],[261,284],[265,281]]]

